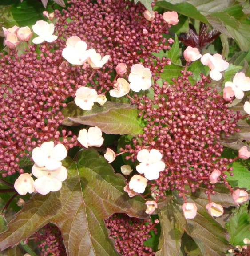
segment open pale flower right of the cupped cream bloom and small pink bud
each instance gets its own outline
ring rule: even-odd
[[[152,74],[149,68],[144,68],[141,64],[132,65],[131,73],[128,76],[130,89],[134,92],[149,89],[152,85],[151,77]]]

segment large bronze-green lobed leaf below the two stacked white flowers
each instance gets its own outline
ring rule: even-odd
[[[61,190],[34,195],[0,234],[0,250],[16,245],[46,223],[55,223],[67,256],[116,256],[103,219],[116,212],[147,217],[145,200],[128,197],[123,191],[124,177],[116,175],[97,151],[82,150],[76,161],[67,160],[63,165],[68,178]]]

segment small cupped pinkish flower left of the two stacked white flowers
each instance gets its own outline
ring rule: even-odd
[[[19,195],[31,194],[36,191],[34,188],[34,179],[28,173],[20,174],[14,183],[14,188]]]

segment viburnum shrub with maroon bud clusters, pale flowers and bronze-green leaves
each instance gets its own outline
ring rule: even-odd
[[[183,17],[142,2],[70,0],[47,21],[3,27],[0,192],[14,194],[0,250],[249,251],[234,227],[250,228],[248,66],[208,53],[220,32],[204,23],[180,34],[181,55],[172,26]]]

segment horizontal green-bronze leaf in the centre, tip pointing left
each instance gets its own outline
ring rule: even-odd
[[[81,110],[77,111],[79,113]],[[98,126],[106,134],[131,134],[136,136],[143,132],[138,113],[139,110],[136,106],[107,102],[104,106],[96,106],[92,110],[84,112],[83,115],[79,114],[77,117],[68,118],[76,123]]]

